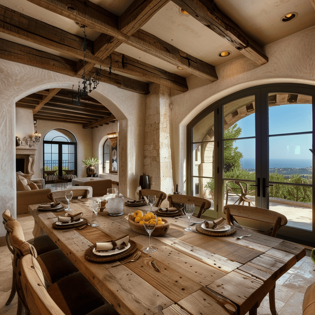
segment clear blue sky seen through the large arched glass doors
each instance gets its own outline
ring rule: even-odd
[[[240,137],[255,136],[255,113],[237,122]],[[269,134],[312,131],[312,104],[269,107]],[[237,140],[234,146],[244,158],[255,158],[255,140]],[[312,135],[270,137],[269,157],[277,159],[312,159]]]

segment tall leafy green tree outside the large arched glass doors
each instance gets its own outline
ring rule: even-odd
[[[242,128],[237,127],[235,123],[232,127],[226,129],[223,134],[224,139],[238,138],[242,132]],[[233,148],[233,143],[236,140],[226,140],[224,141],[224,173],[230,172],[233,169],[240,169],[241,163],[240,159],[243,157],[242,152],[238,151],[238,147]],[[227,177],[226,174],[224,177]]]

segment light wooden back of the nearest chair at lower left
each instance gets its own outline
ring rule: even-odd
[[[43,272],[32,255],[22,257],[18,295],[26,311],[32,315],[65,315],[48,294]]]

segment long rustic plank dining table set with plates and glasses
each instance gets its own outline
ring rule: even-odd
[[[92,200],[72,203],[75,213],[91,222]],[[124,198],[124,201],[131,200]],[[100,212],[99,227],[55,229],[52,224],[60,213],[40,212],[38,205],[29,207],[35,220],[33,234],[47,233],[77,266],[83,275],[122,315],[244,315],[256,314],[263,298],[276,280],[305,256],[305,249],[279,238],[236,229],[227,237],[212,237],[200,232],[186,232],[184,219],[165,218],[170,222],[167,233],[152,237],[157,251],[141,253],[134,262],[112,268],[120,261],[95,263],[85,252],[97,241],[129,234],[137,250],[146,248],[149,238],[129,227],[128,214],[150,206],[124,206],[124,215]],[[163,219],[163,217],[162,217]],[[67,232],[63,232],[67,231]],[[277,290],[277,288],[276,288]],[[70,294],[70,292],[69,292]]]

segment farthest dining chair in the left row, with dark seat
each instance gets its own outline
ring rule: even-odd
[[[3,211],[2,218],[3,218],[3,224],[4,225],[8,221],[16,221],[12,217],[12,215],[8,209],[5,209],[5,211]],[[5,228],[7,230],[6,225],[5,225]],[[9,251],[12,253],[12,287],[11,287],[10,296],[9,296],[7,302],[5,303],[5,305],[9,305],[12,302],[12,300],[15,296],[15,293],[16,293],[14,281],[15,281],[16,272],[17,272],[16,266],[17,266],[17,259],[18,259],[17,258],[17,252],[14,249],[14,247],[11,245],[9,233],[10,233],[10,231],[7,230],[7,233],[5,235],[5,241],[6,241],[6,244],[7,244]],[[53,242],[53,240],[47,234],[38,236],[36,238],[31,238],[31,239],[27,240],[26,242],[35,247],[37,255],[41,255],[41,254],[44,254],[46,252],[58,249],[58,246]]]

